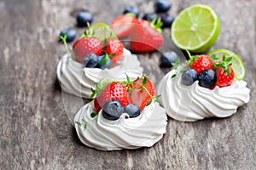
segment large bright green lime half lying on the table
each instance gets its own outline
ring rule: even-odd
[[[218,15],[203,4],[183,9],[172,23],[172,41],[178,48],[203,53],[218,38]]]

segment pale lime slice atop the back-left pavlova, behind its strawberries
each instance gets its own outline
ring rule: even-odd
[[[117,38],[114,35],[111,28],[105,23],[96,23],[90,26],[90,28],[94,31],[94,34],[93,34],[94,37],[97,37],[101,40],[104,40],[105,38],[110,38],[110,37]]]

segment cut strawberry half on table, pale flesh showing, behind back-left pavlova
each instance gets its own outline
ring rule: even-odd
[[[111,28],[117,37],[127,37],[136,23],[137,19],[134,14],[124,14],[113,20]]]

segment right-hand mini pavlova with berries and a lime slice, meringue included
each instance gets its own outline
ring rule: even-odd
[[[227,117],[250,99],[241,58],[226,49],[190,56],[162,78],[157,92],[167,115],[183,122]]]

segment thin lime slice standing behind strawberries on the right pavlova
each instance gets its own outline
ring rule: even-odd
[[[241,58],[235,54],[234,52],[228,50],[228,49],[215,49],[213,51],[210,51],[208,55],[215,54],[218,59],[222,59],[223,55],[226,55],[227,57],[232,57],[232,65],[231,68],[233,69],[235,73],[235,77],[237,80],[242,80],[245,76],[245,68],[243,65],[243,62]]]

